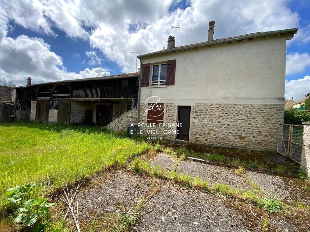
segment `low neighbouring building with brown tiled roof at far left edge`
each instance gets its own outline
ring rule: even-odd
[[[11,104],[13,88],[0,85],[0,122],[11,120],[11,114],[14,113],[14,105]]]

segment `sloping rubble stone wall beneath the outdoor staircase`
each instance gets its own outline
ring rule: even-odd
[[[138,111],[137,109],[129,110],[115,119],[108,125],[108,128],[113,131],[126,130],[128,123],[137,124]]]

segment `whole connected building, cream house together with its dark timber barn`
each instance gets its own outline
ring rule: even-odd
[[[167,49],[138,56],[140,73],[28,84],[16,88],[17,96],[31,105],[31,120],[91,120],[112,130],[154,123],[149,137],[276,151],[285,106],[286,40],[298,28],[216,40],[213,28],[214,21],[208,41],[191,45],[175,47],[169,36]],[[126,99],[131,94],[136,95]],[[138,132],[145,135],[144,126]]]

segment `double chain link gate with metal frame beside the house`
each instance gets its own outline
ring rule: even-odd
[[[279,124],[277,152],[300,164],[303,126]]]

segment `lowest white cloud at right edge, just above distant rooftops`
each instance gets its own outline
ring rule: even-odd
[[[303,99],[306,93],[310,92],[310,76],[304,76],[301,79],[285,82],[285,98],[294,97],[294,101]]]

